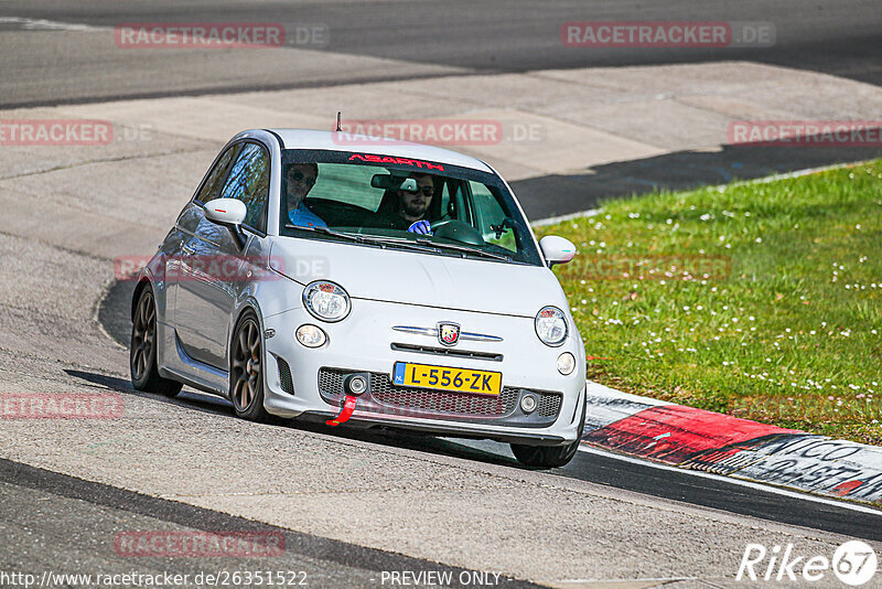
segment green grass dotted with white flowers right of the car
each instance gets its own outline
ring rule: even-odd
[[[882,443],[882,160],[607,202],[540,233],[579,247],[555,271],[589,378]]]

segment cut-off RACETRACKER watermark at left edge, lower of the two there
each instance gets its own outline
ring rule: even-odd
[[[119,419],[119,393],[0,393],[0,419]]]

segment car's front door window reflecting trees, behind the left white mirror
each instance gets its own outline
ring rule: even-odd
[[[222,199],[245,203],[245,225],[266,233],[266,207],[269,196],[269,157],[257,143],[245,143],[229,170]]]

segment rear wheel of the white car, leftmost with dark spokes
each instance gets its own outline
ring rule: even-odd
[[[129,343],[129,372],[131,385],[137,390],[174,397],[183,386],[176,381],[163,378],[157,367],[157,302],[153,288],[148,283],[138,297],[131,319]]]

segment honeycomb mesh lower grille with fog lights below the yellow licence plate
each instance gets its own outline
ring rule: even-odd
[[[343,378],[356,371],[341,368],[322,368],[319,371],[319,393],[331,405],[340,406],[345,393]],[[517,387],[503,387],[502,394],[470,395],[467,393],[448,393],[432,388],[410,388],[392,384],[385,373],[366,373],[370,376],[370,396],[377,404],[388,407],[390,413],[427,413],[444,416],[505,418],[518,409],[523,393],[533,393],[539,397],[536,415],[545,418],[557,418],[563,397],[558,393],[545,390],[526,390]],[[515,418],[515,417],[513,417]],[[521,415],[520,419],[524,416]]]

